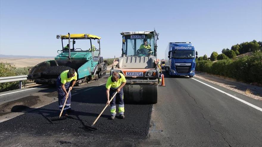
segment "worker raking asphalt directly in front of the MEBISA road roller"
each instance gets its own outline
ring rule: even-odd
[[[125,118],[124,116],[124,91],[123,87],[125,86],[127,80],[122,73],[113,72],[112,75],[107,79],[106,83],[106,95],[107,95],[107,104],[110,105],[111,119],[116,117],[116,99],[119,100],[118,112],[120,118]],[[109,97],[112,97],[115,92],[116,97],[109,103]]]

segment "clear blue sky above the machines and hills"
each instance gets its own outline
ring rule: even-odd
[[[122,31],[160,34],[158,58],[168,42],[190,41],[210,56],[236,43],[262,40],[261,0],[29,1],[0,0],[0,53],[56,56],[57,34],[102,37],[104,58],[121,55]]]

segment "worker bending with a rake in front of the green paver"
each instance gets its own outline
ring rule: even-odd
[[[77,80],[77,72],[75,69],[69,69],[63,71],[57,78],[57,92],[58,92],[58,104],[60,111],[63,108],[64,102],[66,100],[66,97],[68,96],[66,100],[66,105],[64,107],[64,115],[68,116],[67,113],[71,113],[73,110],[71,109],[71,90],[74,87]],[[70,89],[70,92],[68,93],[68,90]]]

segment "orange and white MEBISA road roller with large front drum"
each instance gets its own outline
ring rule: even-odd
[[[159,68],[157,66],[156,31],[122,32],[122,56],[110,73],[121,72],[127,83],[124,86],[125,101],[157,103]]]

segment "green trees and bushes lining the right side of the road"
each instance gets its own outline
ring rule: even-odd
[[[251,51],[253,53],[250,56],[236,58],[239,54]],[[213,52],[210,58],[207,55],[199,57],[196,60],[196,71],[262,84],[262,43],[255,40],[243,42],[233,45],[231,49],[223,49],[221,54]]]

